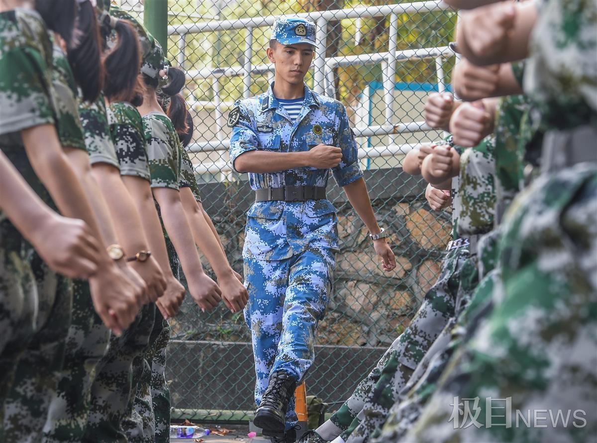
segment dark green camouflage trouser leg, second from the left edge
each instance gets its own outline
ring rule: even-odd
[[[35,334],[21,353],[4,401],[0,435],[5,443],[39,442],[50,402],[56,396],[72,309],[72,281],[30,253],[38,292]]]

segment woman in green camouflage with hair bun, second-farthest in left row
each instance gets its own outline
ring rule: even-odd
[[[137,26],[139,27],[140,24]],[[179,94],[184,85],[185,75],[177,68],[164,69],[166,66],[164,53],[159,42],[149,33],[146,35],[152,41],[152,48],[141,66],[146,94],[143,106],[140,106],[139,110],[143,115],[148,146],[152,192],[164,227],[173,272],[175,275],[178,272],[179,257],[181,257],[180,265],[185,270],[190,295],[202,309],[211,309],[216,306],[221,293],[216,283],[202,270],[180,197],[183,150],[177,131],[182,131],[186,126],[186,104]],[[168,115],[164,113],[156,92],[161,76],[167,76],[170,80],[160,88],[161,94],[170,97]],[[173,122],[176,122],[176,127]],[[198,285],[200,281],[201,287]],[[160,310],[162,314],[168,314]],[[165,381],[166,346],[170,327],[165,319],[157,317],[152,334],[155,342],[150,343],[146,361],[152,369],[150,393],[155,417],[155,439],[156,442],[165,442],[170,438],[170,393]]]

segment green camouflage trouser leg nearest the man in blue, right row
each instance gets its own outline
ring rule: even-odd
[[[392,343],[376,367],[358,384],[353,395],[328,422],[317,429],[324,441],[331,441],[338,436],[344,441],[349,438],[361,420],[365,420],[365,408],[370,408],[377,417],[385,417],[383,410],[393,405],[394,393],[399,392],[408,382],[427,349],[454,316],[460,269],[467,254],[468,251],[463,247],[447,252],[437,281],[427,291],[410,325]],[[302,441],[321,439],[310,436]]]

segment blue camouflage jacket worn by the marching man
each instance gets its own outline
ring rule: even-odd
[[[362,177],[356,142],[339,101],[304,86],[300,115],[293,123],[273,95],[236,101],[228,116],[232,127],[230,161],[250,150],[307,151],[322,143],[340,147],[342,159],[332,173],[340,186]],[[327,186],[330,170],[312,167],[276,173],[250,173],[252,189],[282,186]],[[336,210],[328,200],[256,202],[247,213],[243,256],[262,260],[287,259],[307,247],[337,249]]]

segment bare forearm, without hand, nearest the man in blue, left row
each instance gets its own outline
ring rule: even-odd
[[[230,267],[230,263],[226,259],[226,254],[224,254],[223,249],[220,247],[217,236],[214,235],[205,220],[203,212],[199,208],[189,187],[180,189],[180,199],[184,207],[184,213],[187,216],[187,220],[189,220],[195,244],[207,258],[208,262],[210,262],[217,278],[220,279],[226,275],[232,275],[232,267]]]

